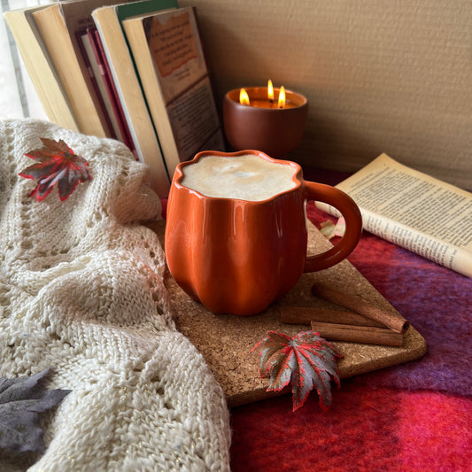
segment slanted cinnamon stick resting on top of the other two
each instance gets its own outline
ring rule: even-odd
[[[371,305],[356,295],[333,289],[325,283],[315,283],[312,287],[312,293],[337,305],[344,306],[353,312],[363,314],[371,320],[379,321],[398,333],[405,333],[410,327],[410,322],[406,321],[400,314],[385,312],[378,306]]]

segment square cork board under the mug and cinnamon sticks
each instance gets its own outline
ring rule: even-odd
[[[148,225],[164,245],[165,222]],[[328,239],[307,222],[308,254],[319,253],[331,247]],[[315,249],[316,248],[316,249]],[[393,306],[364,278],[348,260],[335,267],[303,274],[297,285],[280,302],[269,306],[263,313],[241,317],[232,314],[214,314],[190,298],[166,271],[165,283],[170,292],[177,329],[189,337],[202,353],[216,380],[221,384],[228,406],[241,406],[263,398],[287,392],[267,392],[267,378],[259,377],[259,351],[252,351],[255,344],[266,337],[267,331],[275,330],[290,337],[309,326],[290,325],[280,321],[280,306],[310,306],[327,309],[343,309],[329,301],[313,297],[314,282],[328,283],[337,290],[346,291],[363,298],[368,303],[387,312],[399,314]],[[421,358],[426,352],[424,338],[410,326],[401,347],[375,344],[332,342],[343,354],[338,362],[341,378],[387,368]]]

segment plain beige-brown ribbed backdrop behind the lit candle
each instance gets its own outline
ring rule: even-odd
[[[356,170],[381,152],[472,189],[470,0],[180,0],[215,93],[272,79],[306,95],[290,156]]]

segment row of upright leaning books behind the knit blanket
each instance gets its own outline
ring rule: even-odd
[[[159,197],[179,162],[224,151],[194,8],[66,0],[4,18],[49,119],[125,143]]]

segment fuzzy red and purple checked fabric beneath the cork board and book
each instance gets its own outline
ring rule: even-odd
[[[336,184],[345,174],[306,172]],[[329,215],[307,208],[315,223]],[[233,472],[472,470],[472,279],[364,232],[352,264],[428,344],[421,360],[231,410]]]

